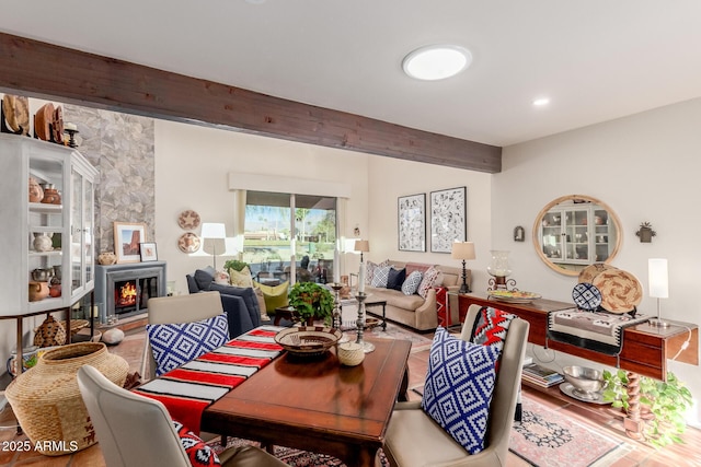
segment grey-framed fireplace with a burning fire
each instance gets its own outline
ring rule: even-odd
[[[165,294],[165,261],[95,267],[100,323],[106,323],[111,311],[119,318],[145,313],[151,296]]]

